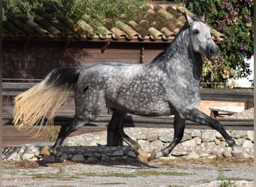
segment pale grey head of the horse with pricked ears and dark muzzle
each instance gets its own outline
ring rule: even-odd
[[[206,15],[204,14],[201,19],[192,19],[186,13],[185,16],[189,24],[192,49],[195,52],[201,53],[201,55],[206,55],[212,61],[213,56],[219,55],[219,47],[211,37],[210,28],[204,24],[206,22]]]

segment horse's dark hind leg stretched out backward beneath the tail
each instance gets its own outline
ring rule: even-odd
[[[85,121],[82,117],[76,115],[75,117],[73,117],[73,120],[70,123],[61,126],[61,130],[58,133],[58,138],[55,141],[55,144],[49,150],[50,153],[52,153],[53,155],[57,155],[64,139],[72,132],[76,131],[80,126],[84,126],[87,122],[88,121]]]

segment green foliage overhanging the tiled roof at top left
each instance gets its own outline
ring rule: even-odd
[[[71,19],[85,19],[94,28],[104,20],[115,23],[123,19],[138,16],[145,0],[4,0],[3,19],[5,12],[23,13],[33,19],[34,10],[40,9],[55,16],[67,16]]]

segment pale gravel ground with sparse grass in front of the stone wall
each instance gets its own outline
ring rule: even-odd
[[[149,165],[134,160],[26,161],[4,162],[3,166],[3,186],[219,186],[219,171],[223,179],[231,179],[232,186],[254,186],[252,159],[159,159]]]

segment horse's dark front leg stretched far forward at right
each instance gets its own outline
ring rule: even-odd
[[[234,147],[236,145],[234,139],[231,138],[230,135],[228,135],[228,132],[225,131],[224,127],[222,126],[221,123],[219,123],[218,120],[215,120],[212,117],[207,116],[207,114],[204,114],[198,109],[194,108],[192,110],[187,111],[186,118],[196,123],[201,123],[210,126],[213,129],[216,129],[216,131],[218,131],[223,136],[223,138],[225,138],[225,141],[227,141],[229,146]]]

